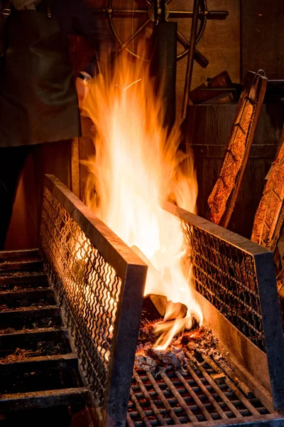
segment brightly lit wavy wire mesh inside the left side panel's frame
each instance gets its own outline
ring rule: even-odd
[[[121,279],[45,188],[40,251],[96,404],[104,406]]]

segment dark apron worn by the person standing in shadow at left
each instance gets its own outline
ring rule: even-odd
[[[0,78],[0,147],[80,136],[74,74],[57,21],[13,11]]]

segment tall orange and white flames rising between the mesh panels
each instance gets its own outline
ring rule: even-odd
[[[101,64],[102,66],[102,64]],[[148,69],[120,56],[92,82],[84,114],[96,129],[96,156],[87,162],[86,203],[133,251],[148,263],[145,295],[165,295],[187,305],[187,317],[156,325],[165,349],[173,337],[192,327],[202,312],[192,297],[190,273],[182,273],[185,243],[180,220],[162,201],[195,211],[197,182],[192,158],[178,147],[178,125],[163,127],[163,100],[155,94]],[[168,305],[170,310],[170,305]]]

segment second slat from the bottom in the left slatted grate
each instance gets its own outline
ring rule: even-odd
[[[21,374],[23,372],[50,371],[58,369],[77,369],[78,358],[75,353],[52,356],[29,357],[17,362],[0,364],[0,375]]]

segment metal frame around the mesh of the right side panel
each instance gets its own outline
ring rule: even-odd
[[[205,320],[207,317],[219,317],[220,321],[210,324],[212,331],[221,340],[222,344],[235,356],[239,357],[241,363],[247,357],[255,356],[256,352],[260,358],[266,359],[268,363],[268,371],[271,384],[271,392],[273,396],[273,406],[276,411],[284,408],[284,339],[283,328],[280,317],[280,307],[278,304],[278,293],[275,278],[275,269],[273,264],[273,253],[268,251],[256,243],[252,243],[246,238],[243,238],[231,231],[226,230],[214,223],[207,221],[204,218],[191,214],[190,212],[180,209],[178,206],[165,203],[164,209],[178,216],[182,221],[202,231],[210,233],[220,241],[229,243],[234,248],[239,248],[244,253],[248,254],[254,261],[257,278],[258,296],[261,305],[261,317],[263,324],[263,334],[266,346],[266,354],[261,352],[248,337],[245,337],[236,327],[226,320],[226,318],[218,313],[216,307],[206,301],[206,309],[204,310]],[[201,295],[200,295],[201,296]],[[234,330],[231,334],[230,330]],[[246,348],[244,347],[246,346]],[[244,351],[244,354],[242,352]],[[254,369],[258,370],[258,378],[265,375],[262,371],[263,364]],[[249,369],[250,367],[246,367]],[[249,372],[250,374],[254,374]]]

